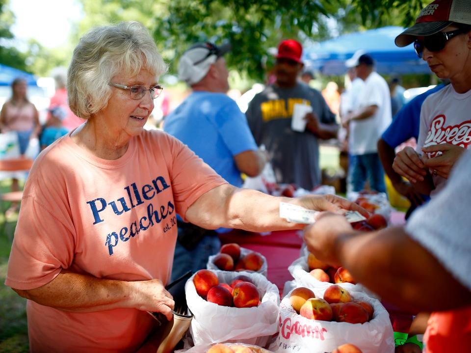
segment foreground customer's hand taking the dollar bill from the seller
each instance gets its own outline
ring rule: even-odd
[[[331,212],[323,212],[313,225],[305,228],[304,241],[308,250],[320,261],[340,266],[336,251],[337,240],[342,235],[351,232],[352,226],[345,217]]]

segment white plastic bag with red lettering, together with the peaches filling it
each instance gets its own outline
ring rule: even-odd
[[[342,352],[335,350],[350,344],[362,353],[393,353],[391,321],[379,300],[332,287],[290,291],[280,304],[279,334],[268,349],[275,353]]]

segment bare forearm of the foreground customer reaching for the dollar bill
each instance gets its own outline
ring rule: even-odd
[[[403,228],[354,233],[336,244],[340,263],[383,300],[412,311],[471,304],[471,293]]]

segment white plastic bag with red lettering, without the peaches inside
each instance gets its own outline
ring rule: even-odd
[[[297,314],[289,302],[289,294],[280,305],[280,332],[270,345],[273,352],[325,353],[342,344],[350,343],[363,353],[393,353],[394,336],[389,314],[377,299],[352,292],[357,300],[364,300],[374,309],[373,318],[365,324],[349,324],[311,320]],[[317,298],[323,291],[314,291]]]

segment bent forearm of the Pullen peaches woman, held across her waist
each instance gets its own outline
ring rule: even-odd
[[[39,288],[15,291],[23,298],[59,310],[93,312],[128,307],[131,299],[129,283],[63,270]]]

